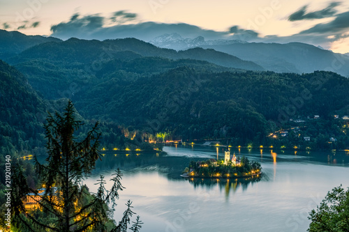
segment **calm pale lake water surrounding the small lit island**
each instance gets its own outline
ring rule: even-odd
[[[349,186],[349,155],[345,152],[251,150],[231,148],[262,164],[262,177],[186,179],[179,175],[191,160],[223,159],[222,148],[165,146],[163,153],[105,153],[91,177],[91,192],[103,174],[110,179],[120,168],[124,177],[114,219],[124,203],[144,222],[141,231],[306,231],[309,211],[333,187]],[[110,185],[107,185],[110,186]],[[133,220],[135,221],[135,216]]]

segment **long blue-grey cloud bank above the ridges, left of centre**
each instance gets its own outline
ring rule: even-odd
[[[202,29],[199,26],[190,24],[164,24],[156,22],[137,22],[129,23],[132,20],[138,20],[138,15],[127,13],[124,10],[112,13],[109,17],[101,15],[80,16],[78,13],[70,17],[68,22],[61,22],[51,26],[51,36],[66,40],[71,37],[82,39],[115,39],[115,38],[138,38],[149,41],[165,33],[179,33],[186,38],[196,38],[204,36],[206,39],[229,38],[229,31],[213,31]],[[114,21],[114,22],[113,22]],[[239,29],[239,33],[250,33],[255,37],[253,31]],[[237,36],[236,36],[237,37]],[[251,37],[251,36],[249,36]],[[247,38],[247,36],[246,36]]]

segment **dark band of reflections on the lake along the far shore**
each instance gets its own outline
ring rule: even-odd
[[[221,157],[221,151],[218,147],[200,147],[194,145],[194,150],[191,146],[184,148],[184,146],[174,144],[172,148],[165,147],[166,149],[172,149],[175,153],[171,156],[166,153],[128,153],[121,152],[105,152],[103,153],[102,160],[98,160],[96,163],[96,172],[105,169],[124,169],[131,170],[137,169],[138,171],[142,169],[156,169],[163,170],[163,173],[168,176],[168,178],[179,179],[179,175],[188,166],[191,160],[200,161],[207,160],[208,158]],[[309,152],[309,150],[292,150],[288,154],[285,154],[285,150],[279,150],[274,152],[274,150],[269,148],[270,155],[266,155],[265,149],[257,148],[251,150],[251,148],[230,148],[232,153],[239,153],[239,156],[247,155],[248,159],[255,160],[258,162],[272,162],[274,164],[274,180],[276,178],[276,163],[279,162],[321,162],[330,165],[345,165],[348,166],[349,155],[344,151],[329,151],[327,153],[316,153]],[[252,152],[251,152],[252,151]],[[263,152],[265,152],[263,154]],[[308,155],[310,153],[310,155]],[[292,155],[291,155],[292,154]],[[188,155],[188,156],[187,156]],[[197,156],[196,156],[197,155]],[[262,165],[263,166],[263,165]],[[165,171],[170,169],[170,171]]]

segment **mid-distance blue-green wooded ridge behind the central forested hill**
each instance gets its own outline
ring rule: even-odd
[[[50,86],[54,82],[59,93],[40,89],[45,98],[50,99],[61,98],[64,95],[66,82],[74,82],[79,86],[93,84],[96,72],[105,70],[105,63],[110,61],[110,68],[125,73],[135,72],[138,76],[144,72],[164,72],[184,65],[206,66],[210,70],[263,70],[253,62],[242,61],[213,49],[176,52],[134,38],[105,41],[70,38],[64,42],[46,42],[6,61],[28,74],[30,84],[36,89],[38,86]],[[134,74],[128,76],[132,78]]]

